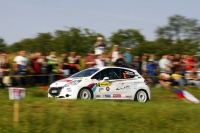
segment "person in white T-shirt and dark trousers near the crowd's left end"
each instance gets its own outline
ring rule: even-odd
[[[19,51],[19,55],[14,58],[13,69],[14,74],[19,75],[19,77],[15,80],[15,85],[24,86],[26,85],[26,78],[24,77],[27,74],[27,63],[28,59],[26,58],[26,51]]]

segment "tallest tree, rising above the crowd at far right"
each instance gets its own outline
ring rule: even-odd
[[[196,19],[174,15],[168,18],[168,25],[157,28],[156,35],[157,38],[171,39],[174,42],[182,39],[197,42],[200,37],[200,26]]]

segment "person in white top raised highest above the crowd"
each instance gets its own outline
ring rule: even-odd
[[[97,37],[97,42],[94,44],[95,55],[104,53],[105,44],[103,43],[102,37]]]

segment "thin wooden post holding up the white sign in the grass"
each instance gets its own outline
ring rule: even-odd
[[[19,100],[14,100],[13,122],[14,122],[14,126],[18,126],[18,122],[19,122]]]

